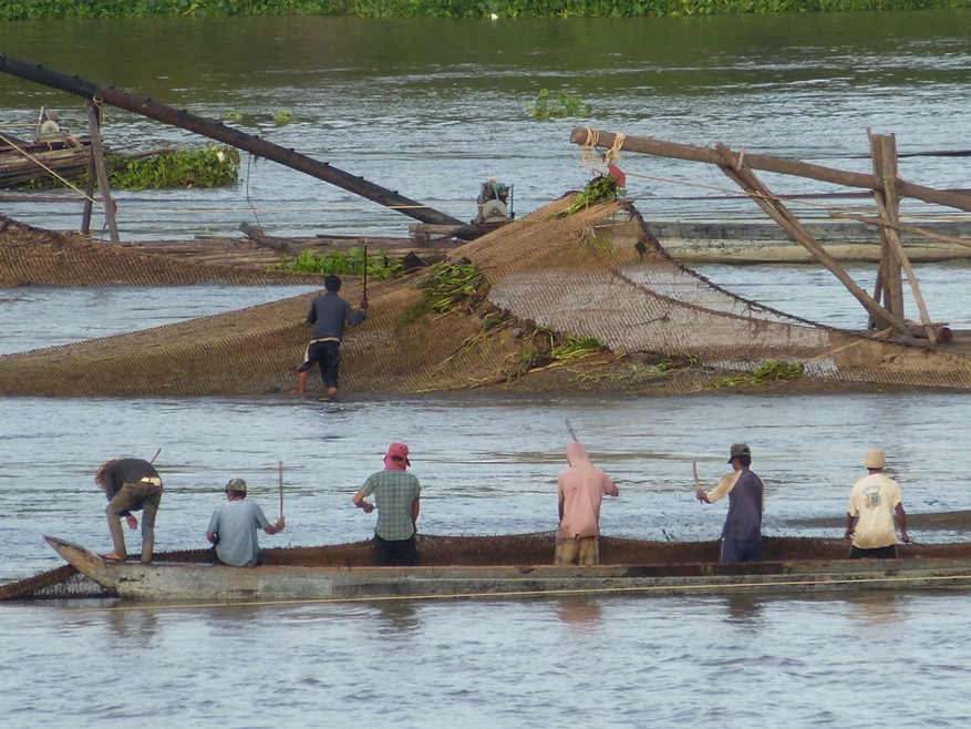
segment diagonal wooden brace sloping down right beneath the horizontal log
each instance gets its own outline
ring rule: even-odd
[[[846,286],[849,292],[862,304],[864,308],[876,321],[885,327],[891,327],[899,333],[908,333],[907,325],[887,311],[887,309],[880,306],[869,294],[860,288],[859,284],[857,284],[849,274],[846,273],[843,266],[840,266],[813,237],[813,235],[806,230],[803,224],[799,223],[783,202],[769,192],[762,181],[755,176],[755,173],[748,170],[745,164],[742,164],[743,160],[741,157],[736,157],[735,154],[721,142],[716,145],[716,150],[722,158],[722,164],[720,165],[722,172],[735,181],[735,183],[737,183],[738,186],[742,187],[742,189],[744,189],[752,199],[754,199],[755,203],[768,214],[769,217],[772,217],[772,219],[778,223],[796,243],[800,244],[813,254],[816,260],[828,268],[829,271],[836,276],[844,286]],[[746,155],[745,162],[747,162],[747,160],[748,157]]]

